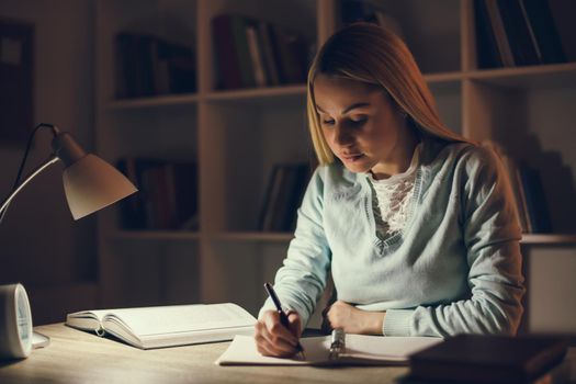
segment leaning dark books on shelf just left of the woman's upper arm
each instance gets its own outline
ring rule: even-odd
[[[262,231],[293,231],[297,210],[310,177],[308,163],[276,163],[273,166],[259,217]]]

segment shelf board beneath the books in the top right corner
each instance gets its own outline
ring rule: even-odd
[[[520,89],[569,87],[576,86],[576,63],[474,70],[464,77]]]

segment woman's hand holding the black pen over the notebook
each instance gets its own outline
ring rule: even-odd
[[[302,320],[295,310],[287,314],[289,328],[280,321],[275,310],[267,310],[255,325],[255,340],[258,352],[276,358],[291,358],[297,353],[296,345],[302,334]]]

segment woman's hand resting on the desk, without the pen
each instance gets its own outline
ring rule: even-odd
[[[342,301],[337,301],[324,312],[325,326],[341,328],[347,334],[382,335],[385,312],[358,309]]]

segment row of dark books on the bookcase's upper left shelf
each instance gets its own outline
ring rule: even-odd
[[[157,36],[115,36],[116,98],[189,93],[196,89],[193,49]]]

